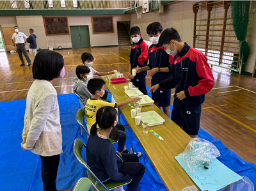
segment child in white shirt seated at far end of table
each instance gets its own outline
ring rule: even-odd
[[[83,61],[83,64],[88,66],[90,68],[90,75],[88,75],[88,77],[90,77],[90,79],[93,79],[93,75],[99,75],[99,76],[103,76],[103,75],[109,75],[109,74],[113,74],[114,71],[111,71],[111,72],[97,72],[96,70],[94,70],[92,68],[92,64],[93,64],[93,56],[92,54],[90,54],[89,52],[84,52],[81,56],[81,59]],[[88,81],[85,82],[86,86],[88,84]],[[104,95],[102,96],[102,100],[107,100],[108,98],[108,91],[105,89],[105,93]]]

